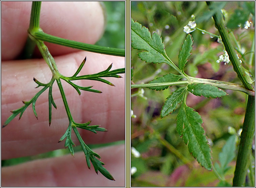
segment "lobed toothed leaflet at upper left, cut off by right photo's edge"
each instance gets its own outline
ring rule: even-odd
[[[164,50],[162,38],[157,33],[151,34],[146,27],[131,19],[131,46],[137,50],[147,52],[138,53],[138,57],[147,63],[167,63],[167,55]]]

